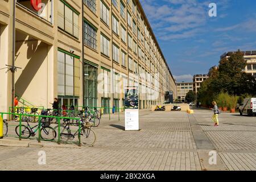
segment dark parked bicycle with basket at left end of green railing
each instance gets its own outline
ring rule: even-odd
[[[41,115],[46,115],[46,112],[44,110],[42,110]],[[25,121],[27,123],[27,125],[17,125],[15,128],[15,132],[16,134],[21,137],[21,138],[30,138],[35,137],[36,132],[38,131],[38,126],[30,126],[30,124]],[[49,126],[49,119],[47,119],[46,117],[42,117],[40,120],[40,133],[41,133],[41,138],[44,140],[54,140],[56,138],[56,131]],[[34,130],[35,129],[35,130]]]

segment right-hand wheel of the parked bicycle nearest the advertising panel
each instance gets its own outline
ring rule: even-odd
[[[96,142],[96,134],[89,127],[83,127],[80,134],[81,144],[83,146],[93,146]]]

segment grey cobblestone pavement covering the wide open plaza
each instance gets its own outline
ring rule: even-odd
[[[102,119],[93,147],[0,147],[2,170],[256,170],[256,117],[222,113],[213,127],[212,111],[140,111],[140,131],[124,131],[123,114]],[[11,129],[14,130],[14,129]],[[12,131],[11,131],[12,132]],[[214,148],[201,150],[200,134]],[[197,135],[197,137],[195,136]],[[209,166],[209,151],[217,165]],[[46,164],[39,165],[39,151]]]

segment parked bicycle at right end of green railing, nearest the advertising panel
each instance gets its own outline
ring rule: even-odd
[[[81,144],[83,146],[93,146],[93,144],[96,142],[96,134],[91,129],[93,125],[92,123],[84,122],[82,120],[82,117],[76,123],[71,123],[70,119],[64,119],[64,122],[65,122],[65,125],[60,125],[60,130],[58,125],[55,126],[54,128],[57,131],[57,133],[60,131],[60,138],[64,143],[67,143],[68,140],[73,140],[76,138],[76,136],[77,137],[79,136],[79,129],[77,129],[77,131],[74,134],[72,134],[72,131],[71,131],[71,126],[79,127],[79,123],[81,124],[81,131],[80,131]]]

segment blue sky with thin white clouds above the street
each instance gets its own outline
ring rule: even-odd
[[[141,0],[178,82],[208,73],[222,53],[256,50],[255,0]],[[210,17],[216,3],[217,17]]]

